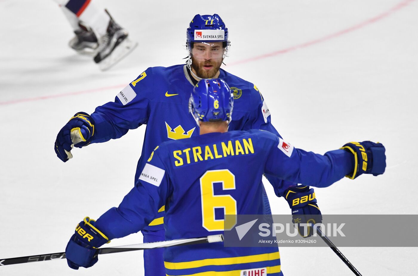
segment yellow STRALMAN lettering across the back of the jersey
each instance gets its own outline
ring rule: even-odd
[[[252,153],[254,153],[254,147],[252,146],[251,138],[248,138],[228,141],[227,143],[221,142],[220,144],[175,150],[173,151],[173,156],[176,158],[174,164],[178,167],[184,164],[190,164],[191,162]]]

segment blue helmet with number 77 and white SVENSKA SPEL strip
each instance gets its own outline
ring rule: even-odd
[[[228,28],[216,13],[214,15],[196,14],[187,28],[187,47],[193,48],[194,42],[224,42],[229,46]]]

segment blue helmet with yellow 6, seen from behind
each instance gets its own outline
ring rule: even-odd
[[[201,79],[189,99],[189,111],[199,126],[202,122],[231,122],[234,96],[222,78]]]

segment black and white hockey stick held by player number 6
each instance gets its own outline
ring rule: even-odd
[[[187,239],[179,239],[179,240],[172,240],[172,241],[156,241],[153,243],[139,243],[133,244],[129,246],[115,246],[115,247],[105,247],[99,248],[97,250],[97,255],[99,254],[109,254],[109,253],[117,253],[117,252],[126,252],[126,251],[135,251],[135,250],[145,250],[145,249],[152,249],[152,248],[162,248],[162,247],[170,247],[170,246],[185,246],[185,245],[192,245],[192,244],[199,244],[199,243],[218,243],[224,241],[224,235],[210,235],[203,238],[187,238]],[[49,261],[49,260],[60,260],[65,259],[65,252],[60,253],[50,253],[45,255],[33,255],[33,256],[25,256],[25,257],[17,257],[17,258],[8,258],[8,259],[1,259],[0,258],[0,266],[7,266],[9,264],[16,264],[16,263],[32,263],[32,262],[40,262],[40,261]]]

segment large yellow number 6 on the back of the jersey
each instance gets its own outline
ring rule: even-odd
[[[221,182],[223,190],[235,189],[235,175],[229,170],[209,170],[200,177],[202,202],[202,226],[208,231],[231,230],[237,223],[236,216],[215,219],[215,208],[223,208],[225,215],[237,214],[237,201],[231,195],[214,195],[213,184]]]

